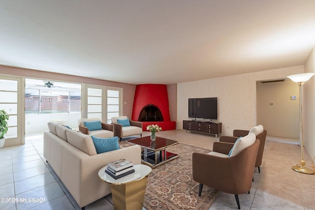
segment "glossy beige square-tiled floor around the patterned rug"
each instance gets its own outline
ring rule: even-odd
[[[144,136],[149,135],[144,132]],[[212,150],[219,138],[184,130],[162,131],[160,137]],[[80,209],[43,157],[42,135],[28,135],[26,144],[0,149],[0,198],[43,198],[44,202],[3,203],[0,210]],[[255,169],[250,194],[240,195],[241,209],[315,210],[315,175],[294,172],[301,150],[297,145],[266,142],[261,173]],[[312,158],[304,152],[307,165]],[[197,192],[196,192],[197,193]],[[113,210],[111,195],[86,210]],[[234,195],[221,192],[211,210],[237,209]]]

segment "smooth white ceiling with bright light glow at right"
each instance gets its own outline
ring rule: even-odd
[[[0,64],[130,84],[303,65],[315,0],[0,0]]]

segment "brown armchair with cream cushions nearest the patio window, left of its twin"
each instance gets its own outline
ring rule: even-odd
[[[96,136],[99,138],[111,138],[114,137],[114,125],[107,124],[104,122],[101,122],[102,130],[91,130],[84,125],[84,122],[87,121],[100,121],[99,118],[82,118],[78,120],[79,123],[79,131],[81,131],[84,134],[90,135],[90,136]]]

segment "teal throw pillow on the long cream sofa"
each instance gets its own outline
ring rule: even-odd
[[[95,136],[91,136],[91,137],[92,137],[97,154],[119,149],[117,136],[108,138],[108,139],[99,138]]]

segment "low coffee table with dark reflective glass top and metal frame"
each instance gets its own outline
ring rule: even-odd
[[[178,144],[177,141],[157,137],[155,141],[151,141],[150,136],[141,137],[138,139],[127,140],[126,142],[139,145],[144,151],[141,154],[142,163],[156,168],[159,165],[167,163],[179,155],[166,151],[167,148]]]

